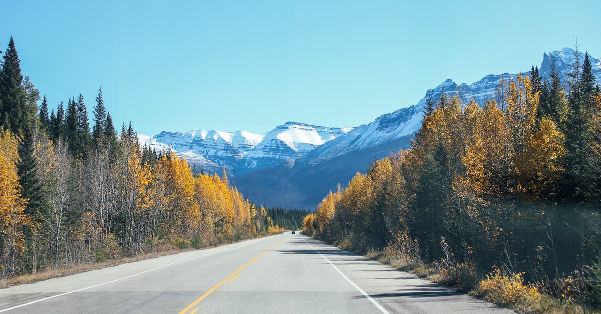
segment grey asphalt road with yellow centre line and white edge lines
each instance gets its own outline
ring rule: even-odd
[[[4,311],[513,313],[290,232],[0,289]]]

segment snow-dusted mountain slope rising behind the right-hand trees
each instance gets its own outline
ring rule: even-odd
[[[596,58],[589,58],[597,82],[601,84],[601,63]],[[569,78],[567,74],[572,72],[575,64],[573,49],[563,48],[543,55],[543,62],[538,69],[543,80],[549,78],[552,60],[555,61],[555,71],[566,84]],[[583,61],[584,54],[580,59],[581,64]],[[529,74],[529,70],[522,72],[522,75]],[[338,183],[346,184],[355,173],[366,171],[374,158],[383,158],[390,152],[408,148],[411,138],[421,127],[428,95],[437,100],[444,90],[450,96],[459,96],[464,103],[473,98],[483,105],[488,99],[495,99],[501,78],[514,79],[516,75],[486,75],[469,85],[447,79],[427,90],[415,105],[381,115],[367,125],[351,129],[294,162],[243,174],[233,180],[238,189],[253,202],[287,208],[315,208],[328,190],[336,189]]]

